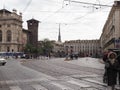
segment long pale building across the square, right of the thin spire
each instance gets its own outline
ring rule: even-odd
[[[80,56],[96,56],[100,54],[99,40],[71,40],[64,43],[65,53],[78,53]]]

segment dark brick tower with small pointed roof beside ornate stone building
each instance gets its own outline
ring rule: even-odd
[[[28,26],[28,30],[30,31],[28,43],[33,45],[33,47],[37,47],[39,21],[35,19],[30,19],[27,21],[27,26]]]

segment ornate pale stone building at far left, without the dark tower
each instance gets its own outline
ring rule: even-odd
[[[22,47],[22,14],[0,10],[0,52],[19,52]]]

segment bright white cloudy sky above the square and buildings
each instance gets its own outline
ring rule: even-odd
[[[80,2],[112,6],[114,0],[1,0],[0,8],[22,12],[25,29],[27,20],[39,20],[39,40],[57,40],[59,24],[62,41],[99,39],[111,7]]]

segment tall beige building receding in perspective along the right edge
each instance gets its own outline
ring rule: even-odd
[[[101,48],[120,48],[120,1],[115,1],[104,25],[101,37]]]

